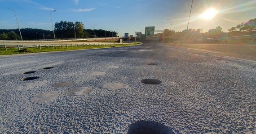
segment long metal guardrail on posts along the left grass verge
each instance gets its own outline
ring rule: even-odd
[[[111,45],[117,45],[117,44],[129,44],[129,43],[108,43],[108,42],[55,42],[55,41],[44,41],[44,42],[37,42],[37,41],[1,41],[0,40],[0,46],[4,46],[5,50],[7,50],[7,46],[17,46],[18,50],[20,50],[20,46],[25,48],[25,46],[36,46],[37,49],[41,50],[41,46],[47,46],[48,48],[50,46],[55,47],[57,49],[57,46],[65,46],[68,48],[68,46],[75,47],[78,46],[111,46]]]

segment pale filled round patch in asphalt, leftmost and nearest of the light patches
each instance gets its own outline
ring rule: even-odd
[[[46,102],[46,101],[50,101],[50,100],[54,100],[59,96],[59,94],[57,92],[46,92],[46,93],[42,93],[42,94],[38,94],[35,95],[31,98],[32,102]]]

